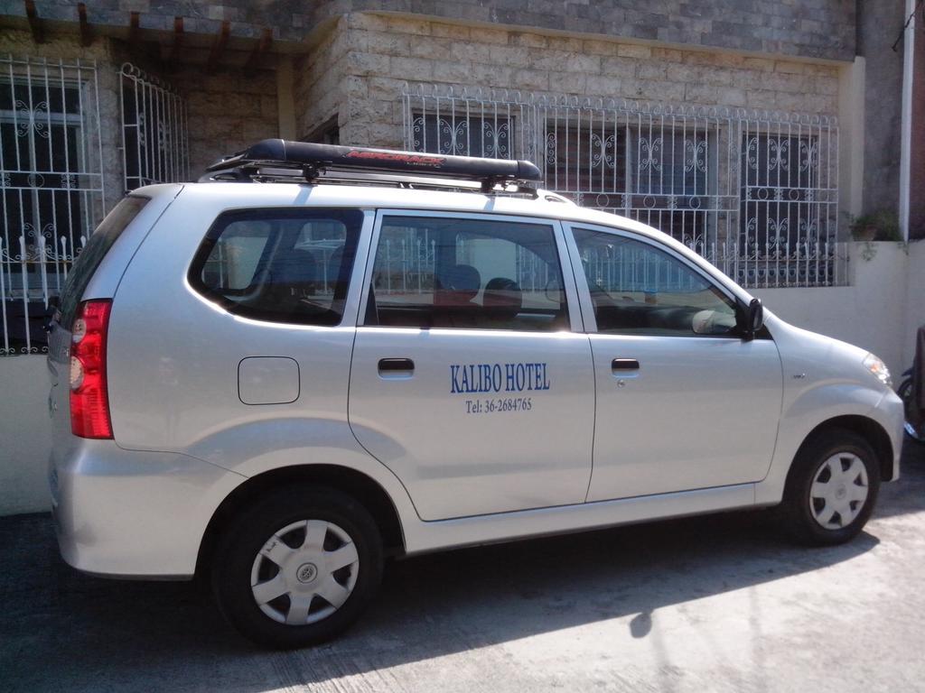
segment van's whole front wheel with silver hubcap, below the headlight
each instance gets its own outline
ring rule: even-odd
[[[821,432],[800,449],[783,493],[783,517],[797,540],[840,544],[857,536],[880,491],[880,465],[855,432]]]

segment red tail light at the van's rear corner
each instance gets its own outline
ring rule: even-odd
[[[106,329],[112,301],[80,304],[71,327],[70,430],[81,438],[112,438],[106,388]]]

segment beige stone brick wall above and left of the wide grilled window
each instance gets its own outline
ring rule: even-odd
[[[834,115],[838,68],[351,14],[334,31],[341,141],[401,146],[405,81]]]

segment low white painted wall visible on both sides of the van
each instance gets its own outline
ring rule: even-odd
[[[898,376],[925,324],[925,242],[874,243],[870,261],[864,245],[850,250],[851,286],[753,293],[787,322],[869,349]],[[44,356],[0,359],[0,516],[49,507],[48,386]]]

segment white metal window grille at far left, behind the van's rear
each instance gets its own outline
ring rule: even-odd
[[[0,356],[44,351],[43,321],[104,213],[96,65],[0,56]]]

